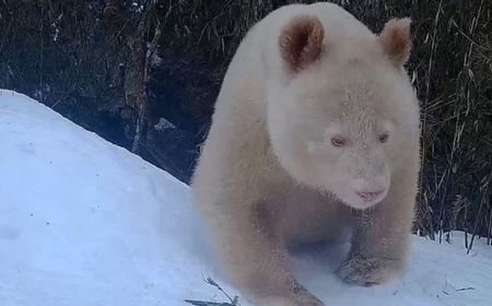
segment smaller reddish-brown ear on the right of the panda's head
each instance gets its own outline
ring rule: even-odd
[[[385,24],[377,37],[383,50],[396,67],[403,66],[410,57],[410,24],[411,20],[408,17],[393,19]]]

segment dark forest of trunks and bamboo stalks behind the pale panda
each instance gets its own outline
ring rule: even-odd
[[[188,183],[235,48],[294,2],[315,1],[0,0],[0,87]],[[445,239],[464,229],[467,247],[475,235],[492,244],[492,1],[332,2],[374,32],[412,17],[423,144],[415,232]]]

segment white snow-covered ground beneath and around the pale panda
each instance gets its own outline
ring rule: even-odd
[[[342,284],[325,252],[292,258],[327,305],[492,305],[492,247],[462,234],[440,245],[412,237],[402,280]],[[0,91],[0,305],[178,306],[230,294],[190,202],[167,173],[65,119]],[[239,298],[243,306],[248,305]]]

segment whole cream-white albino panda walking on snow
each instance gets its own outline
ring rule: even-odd
[[[191,187],[218,259],[249,301],[323,305],[285,256],[343,227],[353,237],[342,280],[378,284],[402,271],[420,164],[408,31],[393,20],[375,35],[335,4],[295,4],[238,47]]]

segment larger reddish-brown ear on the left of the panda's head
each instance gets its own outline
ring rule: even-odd
[[[325,30],[316,16],[297,16],[279,37],[281,57],[291,72],[297,73],[316,61],[323,51]]]

